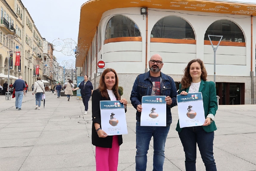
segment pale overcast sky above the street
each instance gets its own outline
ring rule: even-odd
[[[80,8],[87,0],[21,0],[29,11],[41,36],[48,42],[71,38],[77,43]],[[218,0],[219,1],[219,0]],[[231,1],[231,0],[224,0]],[[234,1],[234,0],[232,0]],[[239,0],[239,2],[256,2],[256,0]],[[57,61],[73,59],[62,52],[54,51]]]

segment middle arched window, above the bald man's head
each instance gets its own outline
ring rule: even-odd
[[[177,16],[167,16],[155,24],[151,38],[195,39],[195,34],[186,20]]]

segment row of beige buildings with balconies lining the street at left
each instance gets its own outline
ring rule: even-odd
[[[9,62],[10,75],[23,76],[29,85],[29,91],[37,76],[54,82],[55,71],[52,69],[45,72],[44,56],[48,54],[48,43],[43,44],[46,40],[41,36],[22,1],[0,0],[0,10],[0,73],[8,75]],[[58,68],[52,51],[49,65],[51,68]],[[17,53],[20,54],[20,61],[16,66]],[[1,79],[0,83],[5,81],[7,79]],[[14,81],[10,80],[8,84]]]

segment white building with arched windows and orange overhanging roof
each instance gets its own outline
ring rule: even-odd
[[[110,0],[109,7],[105,3],[83,4],[78,34],[76,66],[96,87],[97,62],[103,60],[105,68],[117,71],[123,97],[130,99],[136,76],[148,71],[153,54],[160,54],[161,71],[174,79],[177,88],[187,63],[200,58],[208,80],[216,81],[219,105],[256,103],[256,4]]]

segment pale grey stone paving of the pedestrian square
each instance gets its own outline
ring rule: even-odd
[[[0,96],[0,171],[95,171],[95,147],[91,144],[91,107],[83,115],[83,102],[57,99],[46,92],[45,109],[35,110],[31,92],[22,110],[15,99]],[[91,101],[89,102],[91,106]],[[185,171],[184,151],[175,131],[177,107],[165,145],[164,171]],[[126,113],[128,134],[120,147],[118,171],[135,170],[135,109]],[[221,105],[215,118],[214,156],[218,171],[256,171],[256,105]],[[147,171],[152,171],[153,140]],[[204,165],[197,152],[197,171]]]

